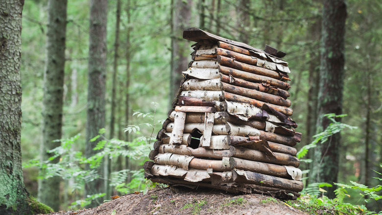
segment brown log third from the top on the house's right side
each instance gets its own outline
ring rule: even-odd
[[[216,57],[217,57],[217,62],[219,62],[219,64],[222,66],[239,69],[241,71],[246,71],[246,72],[254,73],[257,75],[266,76],[266,77],[274,78],[277,80],[283,80],[283,76],[281,76],[279,72],[269,70],[259,66],[242,63],[222,55],[217,55]]]

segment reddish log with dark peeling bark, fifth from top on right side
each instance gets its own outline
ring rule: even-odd
[[[290,96],[289,91],[283,90],[280,88],[271,87],[269,84],[266,84],[266,83],[255,83],[251,81],[245,81],[243,79],[234,78],[232,76],[227,76],[224,74],[221,75],[221,81],[225,83],[230,83],[236,86],[245,87],[248,89],[259,90],[264,93],[280,96],[284,99],[287,99],[287,97]]]

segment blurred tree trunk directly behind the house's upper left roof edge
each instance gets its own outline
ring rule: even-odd
[[[189,27],[191,19],[192,0],[175,0],[173,15],[172,43],[172,70],[170,76],[170,99],[172,100],[183,79],[182,71],[189,64],[189,42],[183,39],[183,30]]]

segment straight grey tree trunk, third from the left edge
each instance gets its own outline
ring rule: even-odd
[[[97,151],[93,148],[97,140],[90,139],[98,134],[99,129],[105,128],[105,85],[106,85],[106,22],[107,0],[90,0],[90,29],[89,29],[89,65],[88,65],[88,108],[86,121],[86,157],[89,158]],[[104,162],[97,172],[104,177]],[[86,166],[89,169],[89,165]],[[85,196],[105,192],[105,183],[97,178],[85,185]],[[95,207],[102,200],[92,202],[88,207]]]

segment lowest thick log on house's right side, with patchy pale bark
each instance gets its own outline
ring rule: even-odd
[[[232,175],[234,181],[237,183],[256,184],[260,186],[263,185],[273,188],[288,189],[296,192],[299,192],[304,188],[302,181],[278,178],[256,172],[234,170]]]

